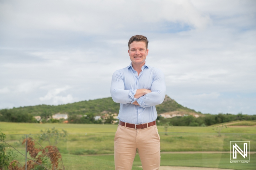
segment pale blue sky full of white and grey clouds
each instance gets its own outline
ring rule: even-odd
[[[136,34],[172,99],[256,114],[253,0],[1,0],[0,109],[110,97]]]

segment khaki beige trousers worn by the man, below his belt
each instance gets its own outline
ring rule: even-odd
[[[160,166],[160,137],[156,125],[145,129],[118,125],[115,139],[116,170],[131,170],[138,148],[143,170],[158,170]]]

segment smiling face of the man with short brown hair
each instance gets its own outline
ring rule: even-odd
[[[148,55],[146,43],[142,41],[133,41],[130,44],[130,49],[128,50],[128,53],[133,64],[145,63],[146,57]]]

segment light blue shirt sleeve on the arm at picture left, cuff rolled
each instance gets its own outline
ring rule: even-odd
[[[116,103],[133,103],[137,99],[134,98],[136,94],[135,90],[124,90],[124,81],[121,76],[121,73],[116,70],[112,76],[111,87],[110,87],[110,94],[114,102]]]

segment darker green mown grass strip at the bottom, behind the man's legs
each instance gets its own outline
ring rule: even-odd
[[[107,170],[115,169],[114,155],[77,156],[65,154],[62,156],[65,162],[65,169],[71,170]],[[251,154],[250,164],[231,164],[228,153],[203,153],[203,154],[161,154],[160,166],[194,166],[229,168],[237,170],[253,170],[256,167],[256,154]],[[86,165],[86,166],[83,166]],[[133,170],[142,170],[140,157],[136,154],[133,162]]]

